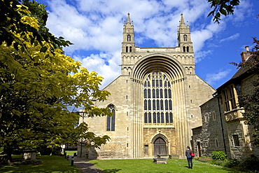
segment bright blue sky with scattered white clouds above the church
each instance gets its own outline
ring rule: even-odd
[[[47,27],[55,36],[73,43],[65,54],[104,77],[102,88],[120,75],[123,23],[127,13],[134,22],[139,47],[176,47],[181,13],[190,25],[196,74],[213,88],[237,71],[245,46],[253,48],[259,37],[259,0],[241,0],[235,15],[218,25],[207,18],[206,0],[40,0],[49,13]]]

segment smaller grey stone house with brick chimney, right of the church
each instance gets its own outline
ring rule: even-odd
[[[253,58],[246,47],[241,53],[242,61]],[[232,78],[221,85],[214,97],[202,104],[202,126],[193,128],[194,150],[199,156],[210,156],[213,151],[224,151],[228,158],[242,160],[251,154],[259,156],[246,134],[251,128],[244,123],[242,95],[251,93],[253,81],[258,74],[241,67]]]

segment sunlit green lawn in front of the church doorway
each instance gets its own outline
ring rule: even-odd
[[[155,164],[151,159],[90,160],[90,162],[106,173],[235,172],[232,169],[209,165],[207,162],[197,160],[193,160],[193,169],[188,169],[186,159],[170,159],[167,160],[167,164]]]

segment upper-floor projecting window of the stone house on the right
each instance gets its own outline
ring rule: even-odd
[[[228,88],[222,91],[223,94],[223,103],[224,110],[231,111],[232,109],[237,108],[237,103],[235,99],[235,92],[233,85],[230,85]]]

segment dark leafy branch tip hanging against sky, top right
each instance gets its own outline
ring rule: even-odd
[[[208,0],[208,2],[211,4],[211,8],[213,8],[209,15],[213,15],[214,22],[218,23],[220,23],[221,15],[234,14],[235,6],[238,6],[240,3],[239,0]]]

